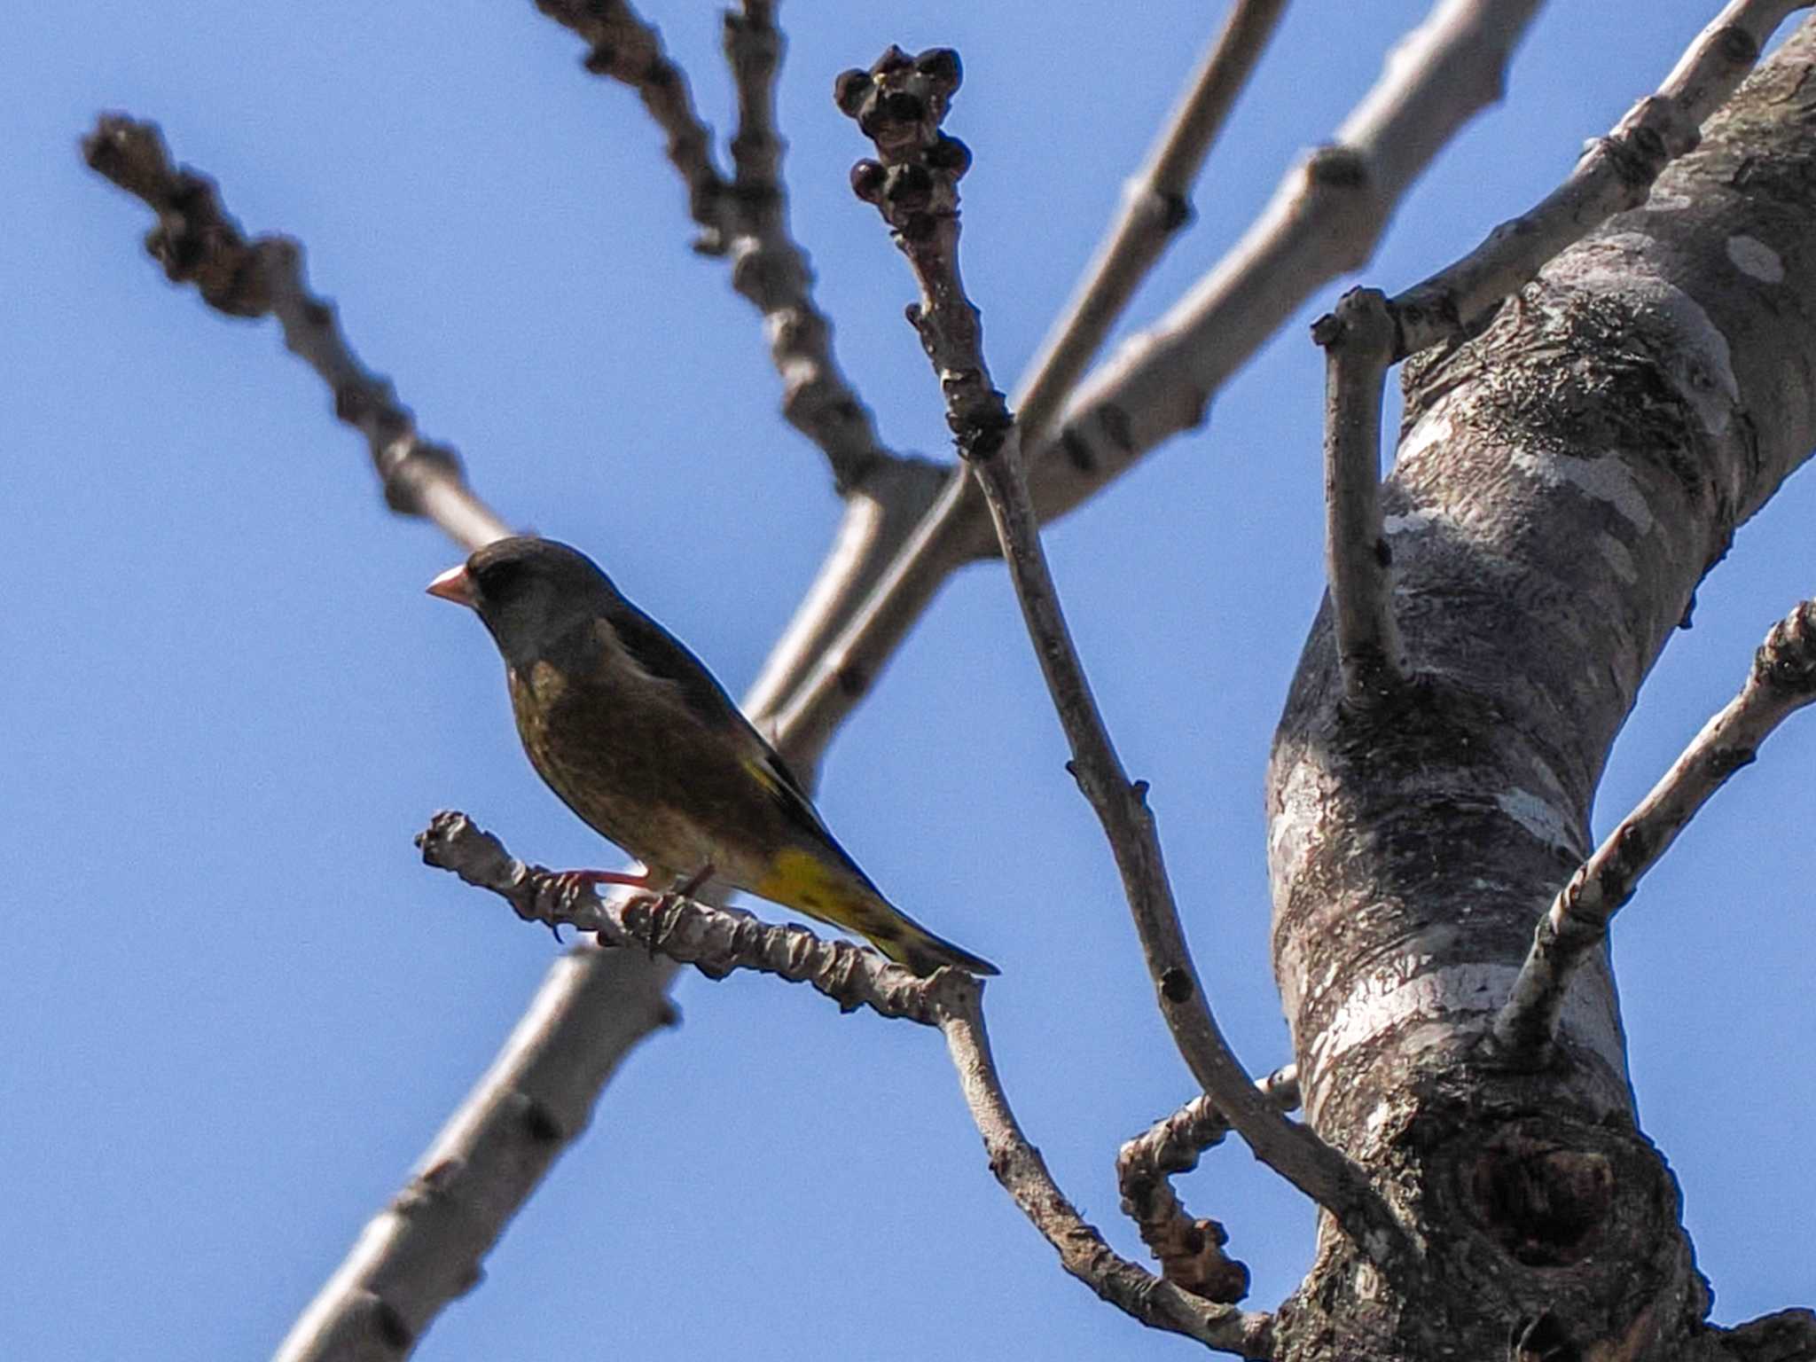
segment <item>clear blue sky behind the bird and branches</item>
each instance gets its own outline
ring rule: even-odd
[[[1567,173],[1714,0],[1553,4],[1364,274],[1404,287]],[[799,238],[839,356],[897,447],[948,454],[901,320],[906,269],[846,187],[832,78],[886,44],[959,47],[975,154],[964,260],[1006,381],[1204,42],[1139,7],[790,0],[781,116]],[[650,5],[728,125],[717,11]],[[1115,18],[1108,15],[1115,13]],[[1220,9],[1219,9],[1220,13]],[[1375,80],[1424,13],[1300,0],[1139,298],[1153,318]],[[100,109],[158,120],[251,231],[309,249],[361,356],[508,519],[592,552],[734,690],[837,521],[775,414],[755,318],[688,251],[634,98],[527,2],[25,7],[0,87],[0,1355],[258,1357],[490,1061],[547,932],[425,870],[454,804],[550,864],[610,852],[516,746],[454,559],[385,512],[363,445],[271,323],[227,321],[140,252],[89,174]],[[1131,774],[1153,786],[1206,984],[1246,1062],[1286,1059],[1266,957],[1260,777],[1320,592],[1326,289],[1209,423],[1050,536]],[[1816,585],[1816,483],[1742,530],[1643,692],[1604,830]],[[1809,837],[1816,721],[1792,721],[1616,928],[1640,1113],[1683,1182],[1716,1315],[1809,1304],[1816,1122]],[[1111,1240],[1117,1144],[1189,1097],[997,568],[953,581],[835,741],[821,803],[892,897],[995,959],[999,1061],[1057,1177]],[[1001,830],[1012,830],[1002,835]],[[992,1182],[928,1031],[806,990],[685,975],[594,1128],[427,1337],[436,1362],[1091,1357],[1188,1346],[1066,1278]],[[1271,1306],[1311,1213],[1246,1153],[1182,1180]],[[804,1320],[812,1320],[804,1324]]]

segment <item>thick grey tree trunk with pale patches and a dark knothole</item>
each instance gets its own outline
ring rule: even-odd
[[[1812,67],[1805,24],[1645,209],[1409,367],[1384,508],[1418,679],[1398,708],[1344,710],[1320,617],[1268,808],[1308,1117],[1426,1239],[1371,1262],[1326,1224],[1278,1317],[1284,1357],[1714,1358],[1762,1342],[1703,1324],[1605,962],[1578,975],[1540,1070],[1478,1042],[1591,850],[1640,683],[1734,527],[1816,441]]]

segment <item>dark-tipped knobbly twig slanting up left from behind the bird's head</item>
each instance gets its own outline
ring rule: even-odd
[[[478,548],[510,534],[467,487],[459,456],[416,432],[390,380],[365,369],[340,334],[334,307],[309,292],[303,249],[287,236],[247,240],[222,207],[214,182],[171,163],[156,123],[104,114],[82,142],[89,167],[142,198],[158,214],[145,234],[173,283],[194,283],[203,301],[227,316],[274,316],[283,343],[334,394],[334,414],[365,436],[385,490],[385,505],[421,516],[449,538]]]

